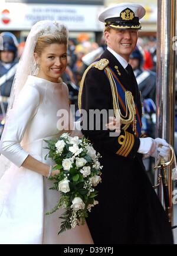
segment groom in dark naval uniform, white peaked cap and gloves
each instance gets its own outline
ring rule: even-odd
[[[95,244],[173,243],[168,218],[142,162],[145,154],[168,158],[169,144],[141,134],[140,92],[128,63],[144,15],[141,5],[130,3],[101,12],[99,20],[105,24],[107,49],[87,69],[80,85],[78,105],[87,112],[87,118],[83,117],[87,126],[82,132],[102,155],[103,165],[99,205],[87,221]],[[98,118],[90,115],[93,111],[104,113]],[[114,111],[120,118],[117,136],[105,129],[109,122],[109,114],[105,121],[105,111]]]

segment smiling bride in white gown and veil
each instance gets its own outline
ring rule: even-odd
[[[45,215],[58,201],[46,178],[60,170],[51,173],[54,163],[44,160],[44,139],[71,132],[73,125],[69,120],[64,127],[57,125],[58,109],[70,113],[67,85],[61,80],[67,43],[64,24],[39,21],[18,64],[1,139],[1,244],[93,244],[87,225],[57,235],[60,210]]]

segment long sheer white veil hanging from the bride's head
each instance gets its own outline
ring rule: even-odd
[[[17,71],[15,73],[14,82],[12,84],[11,95],[9,98],[8,110],[6,112],[5,128],[1,140],[3,140],[6,132],[6,126],[11,119],[14,107],[20,102],[17,101],[19,92],[25,85],[29,75],[35,75],[38,72],[37,64],[34,59],[34,49],[39,37],[50,34],[65,34],[68,38],[68,29],[60,21],[38,21],[31,28],[25,43],[24,51],[21,59],[19,60]],[[0,179],[4,172],[11,166],[11,162],[4,157],[0,156]]]

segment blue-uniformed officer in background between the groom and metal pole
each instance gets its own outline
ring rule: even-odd
[[[142,132],[148,137],[155,138],[156,125],[156,73],[151,70],[143,70],[144,54],[140,46],[136,46],[130,55],[129,63],[132,66],[136,77],[138,88],[141,92],[141,101],[143,105]],[[143,159],[143,163],[148,171],[148,176],[154,183],[153,164],[154,158]]]

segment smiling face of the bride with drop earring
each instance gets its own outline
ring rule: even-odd
[[[58,43],[50,44],[43,48],[40,56],[34,53],[34,58],[39,66],[37,77],[57,83],[67,66],[67,46]]]

